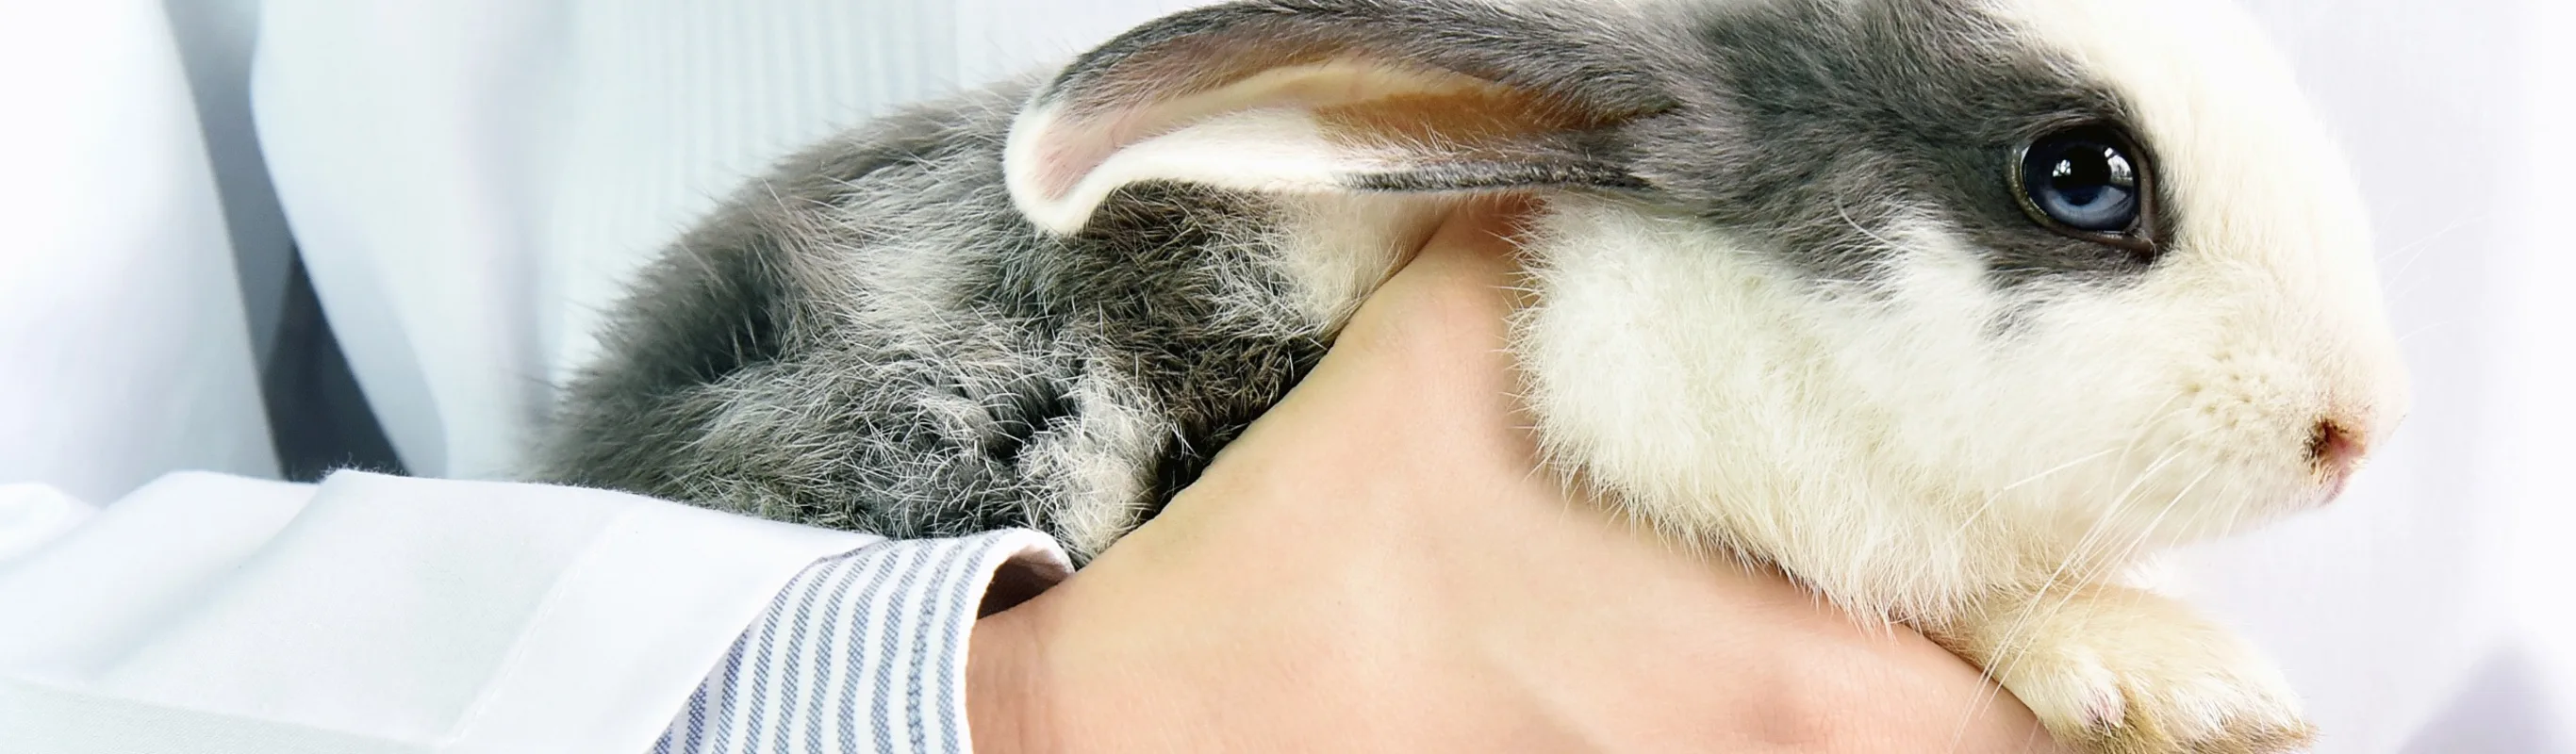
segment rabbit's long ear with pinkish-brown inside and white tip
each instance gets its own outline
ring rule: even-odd
[[[1602,23],[1445,0],[1239,3],[1077,59],[1010,131],[1010,196],[1079,232],[1113,190],[1638,188],[1610,126],[1672,108]]]

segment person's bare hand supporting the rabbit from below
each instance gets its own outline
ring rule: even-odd
[[[976,751],[2056,751],[1911,628],[1538,471],[1461,211],[1159,517],[976,623]]]

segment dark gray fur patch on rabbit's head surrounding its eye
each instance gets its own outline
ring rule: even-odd
[[[1819,278],[1868,280],[1901,211],[1989,250],[2004,286],[2146,268],[2022,214],[2009,149],[2123,124],[2128,106],[1976,3],[1726,3],[1690,28],[1698,54],[1669,77],[1685,106],[1631,129],[1633,170],[1664,201],[1754,232]]]

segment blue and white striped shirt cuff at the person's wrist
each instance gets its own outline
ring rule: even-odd
[[[799,574],[654,754],[966,754],[966,633],[992,574],[1064,574],[1041,533],[889,540]]]

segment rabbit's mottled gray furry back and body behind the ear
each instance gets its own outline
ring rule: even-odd
[[[1321,358],[1273,208],[1141,185],[1077,237],[1002,185],[1025,87],[791,157],[652,262],[538,476],[899,538],[1108,546]]]

